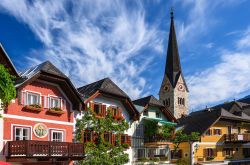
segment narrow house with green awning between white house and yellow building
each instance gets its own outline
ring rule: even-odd
[[[154,132],[154,130],[160,130],[163,125],[172,126],[174,129],[176,119],[152,95],[134,100],[133,103],[140,113],[139,120],[134,124],[135,131],[132,137],[134,162],[140,162],[145,158],[150,162],[150,159],[158,158],[162,163],[166,163],[170,159],[171,139],[164,137],[160,131]],[[152,128],[154,124],[157,125]]]

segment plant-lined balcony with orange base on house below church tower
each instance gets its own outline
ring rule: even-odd
[[[146,146],[171,144],[170,141],[171,140],[169,138],[165,138],[165,137],[160,136],[160,135],[147,136],[144,138],[144,144]]]

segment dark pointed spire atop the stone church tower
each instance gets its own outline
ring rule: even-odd
[[[182,70],[178,52],[178,44],[175,34],[173,8],[171,8],[170,11],[170,18],[171,18],[171,23],[170,23],[170,31],[168,39],[165,75],[169,78],[172,86],[175,87]]]

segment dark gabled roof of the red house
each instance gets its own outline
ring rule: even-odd
[[[16,88],[22,88],[37,79],[59,85],[73,103],[74,109],[79,110],[81,104],[84,104],[70,79],[50,61],[45,61],[20,73],[20,77],[17,78],[15,86]]]

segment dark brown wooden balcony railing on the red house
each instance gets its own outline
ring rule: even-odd
[[[84,157],[84,147],[81,143],[53,142],[53,141],[9,141],[8,157],[25,158],[70,158],[81,159]]]

